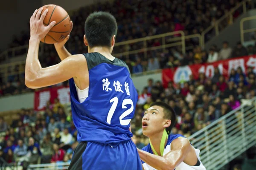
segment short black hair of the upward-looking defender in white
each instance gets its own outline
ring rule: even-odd
[[[150,105],[150,107],[151,106],[160,106],[161,108],[163,108],[164,118],[171,120],[171,125],[169,127],[166,127],[167,134],[170,134],[172,127],[174,127],[175,122],[176,122],[176,114],[175,114],[175,111],[173,110],[173,108],[164,102],[153,102]]]

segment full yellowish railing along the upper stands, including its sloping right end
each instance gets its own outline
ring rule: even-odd
[[[209,31],[211,31],[212,29],[215,29],[215,35],[219,34],[219,27],[220,24],[222,23],[222,21],[224,21],[225,19],[227,19],[229,17],[230,19],[230,24],[233,23],[233,13],[238,10],[239,8],[242,7],[242,11],[243,13],[245,13],[247,11],[247,3],[248,2],[252,2],[252,0],[244,0],[241,3],[239,3],[236,7],[234,7],[233,9],[231,9],[227,14],[225,14],[223,17],[221,17],[219,20],[217,20],[215,22],[215,24],[213,26],[210,26],[209,28],[207,28],[205,31],[202,32],[202,34],[193,34],[193,35],[187,35],[185,36],[183,31],[175,31],[175,32],[170,32],[170,33],[166,33],[166,34],[159,34],[159,35],[154,35],[154,36],[150,36],[150,37],[144,37],[144,38],[140,38],[140,39],[135,39],[135,40],[128,40],[125,42],[118,42],[115,45],[114,50],[116,49],[122,49],[122,52],[115,52],[115,56],[116,57],[128,57],[129,55],[132,54],[139,54],[139,53],[143,53],[144,57],[147,56],[149,51],[164,51],[166,48],[171,48],[171,47],[179,47],[180,51],[182,51],[182,53],[184,54],[186,50],[191,49],[191,47],[186,45],[186,40],[188,39],[194,39],[194,38],[198,38],[198,45],[200,45],[201,47],[204,48],[204,44],[205,44],[205,36],[207,33],[209,33]],[[248,30],[247,30],[248,31]],[[148,46],[148,41],[150,40],[160,40],[160,44],[159,46],[154,46],[154,47],[149,47]],[[140,48],[137,49],[129,49],[130,45],[137,45]],[[41,50],[40,50],[40,54],[42,54],[43,52],[43,47],[44,45],[41,44]],[[116,48],[118,47],[118,48]],[[28,45],[24,45],[24,46],[20,46],[17,48],[11,48],[7,51],[4,51],[2,54],[0,54],[0,60],[2,58],[6,59],[8,61],[9,58],[14,57],[16,54],[19,53],[19,51],[25,51],[25,53],[27,52],[28,49]],[[22,76],[22,74],[24,74],[24,64],[25,61],[20,61],[20,62],[12,62],[6,65],[0,65],[0,76],[3,77],[5,80],[8,79],[8,77],[12,77],[12,76]],[[20,68],[23,68],[19,71],[12,71],[13,68],[19,65]],[[147,74],[147,73],[144,73]]]

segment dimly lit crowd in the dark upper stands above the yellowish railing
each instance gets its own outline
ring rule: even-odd
[[[116,17],[118,23],[117,42],[133,40],[172,31],[185,31],[185,34],[197,34],[204,31],[215,21],[227,14],[242,0],[114,0],[113,3],[95,3],[81,7],[70,14],[74,28],[71,33],[73,51],[82,53],[85,48],[83,39],[84,21],[93,11],[109,11]],[[247,5],[253,8],[251,3]],[[238,9],[233,18],[239,16],[242,9]],[[229,24],[229,20],[221,23],[221,27]],[[22,31],[13,38],[10,48],[28,44],[29,31]]]

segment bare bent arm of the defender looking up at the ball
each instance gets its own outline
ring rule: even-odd
[[[171,143],[171,151],[163,157],[143,150],[138,151],[140,159],[151,167],[157,170],[173,170],[186,158],[191,149],[192,146],[188,139],[177,138]]]

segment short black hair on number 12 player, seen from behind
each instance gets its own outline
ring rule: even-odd
[[[93,12],[85,21],[84,32],[91,48],[111,47],[111,38],[117,32],[116,19],[108,12]]]

